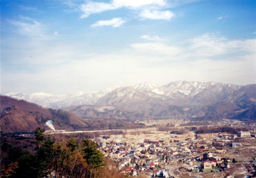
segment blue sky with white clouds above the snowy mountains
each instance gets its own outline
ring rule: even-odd
[[[255,0],[1,0],[0,93],[256,83]]]

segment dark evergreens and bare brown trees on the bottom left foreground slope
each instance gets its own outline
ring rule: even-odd
[[[41,128],[35,131],[35,152],[15,148],[1,142],[0,177],[8,178],[111,178],[124,177],[104,158],[97,145],[84,139],[82,143],[71,137],[61,146],[52,137],[45,138]]]

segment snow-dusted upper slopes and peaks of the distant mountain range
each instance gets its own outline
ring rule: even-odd
[[[163,86],[140,83],[125,87],[114,86],[93,93],[79,91],[70,95],[52,95],[44,92],[37,92],[31,95],[25,95],[24,93],[7,93],[6,95],[54,109],[84,104],[109,105],[121,100],[124,102],[125,100],[145,100],[148,98],[172,100],[172,104],[175,104],[175,102],[176,104],[177,102],[186,103],[188,101],[204,105],[207,104],[207,100],[218,99],[212,94],[224,95],[224,93],[232,92],[240,87],[214,82],[176,81]]]

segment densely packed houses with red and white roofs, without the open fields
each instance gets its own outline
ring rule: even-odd
[[[247,133],[245,135],[243,132],[240,133],[241,136],[248,136]],[[219,139],[218,141],[221,142],[225,139],[235,138],[236,135],[219,133],[215,140]],[[232,164],[232,159],[216,156],[225,152],[224,146],[215,147],[207,144],[205,139],[186,138],[158,141],[144,139],[129,143],[126,138],[104,137],[95,141],[102,152],[105,152],[105,156],[116,163],[120,171],[132,176],[148,174],[149,177],[171,178],[172,175],[169,175],[165,169],[170,164],[185,164],[185,167],[179,168],[181,172],[221,172],[228,169],[230,163]],[[231,147],[242,146],[237,142],[232,142],[231,145]],[[232,175],[226,177],[232,178]]]

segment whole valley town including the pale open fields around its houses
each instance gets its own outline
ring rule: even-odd
[[[120,171],[131,176],[253,178],[256,175],[256,124],[240,121],[224,121],[223,124],[242,125],[250,131],[197,134],[186,132],[178,123],[172,127],[177,129],[175,133],[147,128],[121,135],[100,135],[93,140],[105,157],[111,158]]]

